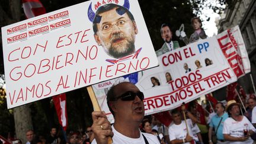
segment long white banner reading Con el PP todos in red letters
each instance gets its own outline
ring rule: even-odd
[[[172,50],[158,56],[158,61],[159,67],[133,73],[132,78],[124,76],[93,86],[98,102],[111,122],[113,117],[106,104],[105,92],[119,81],[137,79],[134,83],[145,95],[143,103],[148,115],[195,100],[235,82],[250,71],[239,27]]]

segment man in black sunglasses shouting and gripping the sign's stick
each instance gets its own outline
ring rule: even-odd
[[[113,143],[159,143],[156,136],[139,130],[144,117],[143,99],[143,93],[130,82],[121,82],[110,88],[107,104],[115,122],[111,126],[104,111],[92,112],[95,135],[92,143],[107,143],[109,136],[113,137]]]

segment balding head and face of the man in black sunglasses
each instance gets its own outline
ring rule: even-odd
[[[116,86],[114,94],[116,97],[125,94],[126,92],[140,92],[140,90],[129,82],[124,82]],[[140,123],[144,117],[143,101],[136,95],[135,100],[123,101],[121,99],[113,101],[110,105],[115,114],[115,120],[120,121],[137,121]]]

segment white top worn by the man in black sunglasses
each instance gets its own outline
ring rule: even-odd
[[[114,133],[114,136],[112,137],[113,139],[113,143],[116,144],[120,144],[120,143],[124,143],[124,144],[146,144],[145,140],[142,136],[142,134],[146,137],[146,139],[148,140],[148,142],[151,144],[160,144],[158,138],[155,135],[149,134],[149,133],[142,133],[140,132],[140,137],[137,139],[133,139],[127,136],[124,136],[123,134],[117,132],[116,129],[114,129],[114,126],[112,126],[112,130]],[[92,144],[97,143],[96,140],[92,140]]]

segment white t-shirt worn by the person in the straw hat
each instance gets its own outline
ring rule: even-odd
[[[253,130],[255,132],[254,126],[252,126],[251,122],[247,119],[247,117],[243,116],[242,121],[235,121],[231,117],[228,117],[228,119],[226,119],[223,124],[223,134],[228,134],[233,137],[243,137],[245,125],[248,125],[248,130]],[[253,140],[251,139],[251,137],[249,137],[244,142],[230,142],[230,143],[250,144],[250,143],[253,143]]]

